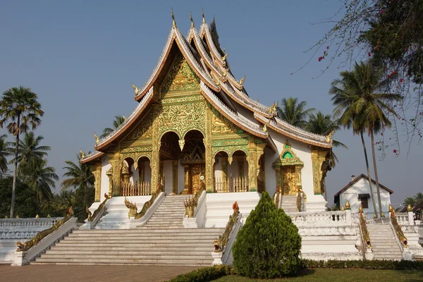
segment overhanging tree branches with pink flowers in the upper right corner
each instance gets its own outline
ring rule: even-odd
[[[321,21],[331,23],[331,30],[309,49],[312,57],[327,62],[324,71],[342,56],[345,61],[340,67],[351,68],[357,59],[368,58],[386,78],[396,76],[386,92],[403,97],[391,104],[397,107],[399,118],[389,117],[396,135],[393,145],[398,148],[402,133],[409,146],[416,135],[422,138],[422,14],[421,0],[342,0],[338,12]]]

